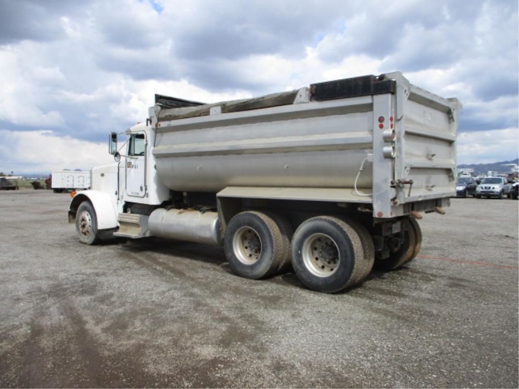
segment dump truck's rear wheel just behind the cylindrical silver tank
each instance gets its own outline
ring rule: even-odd
[[[288,238],[276,221],[262,212],[241,212],[225,230],[225,256],[234,273],[260,279],[279,270],[290,257]]]

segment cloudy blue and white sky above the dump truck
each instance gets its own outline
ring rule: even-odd
[[[206,103],[400,71],[463,104],[457,162],[519,154],[516,0],[0,0],[0,171],[113,161],[154,94]]]

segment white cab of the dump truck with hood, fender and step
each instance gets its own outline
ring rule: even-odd
[[[126,140],[118,143],[119,136]],[[91,170],[91,189],[78,191],[69,210],[69,220],[74,221],[81,203],[90,203],[95,212],[97,229],[84,229],[79,233],[82,243],[97,243],[101,235],[115,235],[126,238],[143,238],[148,232],[135,228],[140,221],[139,214],[151,213],[157,206],[169,199],[169,188],[163,185],[155,172],[153,144],[155,130],[146,123],[137,123],[121,134],[110,134],[109,151],[115,162],[95,166]],[[84,218],[83,224],[91,227],[92,216]],[[99,231],[102,231],[98,233]],[[144,233],[143,233],[144,232]]]

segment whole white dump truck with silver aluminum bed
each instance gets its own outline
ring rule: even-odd
[[[456,99],[401,73],[203,104],[156,95],[72,199],[79,241],[161,237],[224,247],[260,279],[290,265],[313,290],[361,283],[421,246],[416,221],[456,195]]]

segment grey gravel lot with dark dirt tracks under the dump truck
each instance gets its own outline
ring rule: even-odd
[[[420,256],[338,295],[223,250],[80,245],[70,197],[0,192],[1,387],[517,387],[518,203],[454,199]]]

